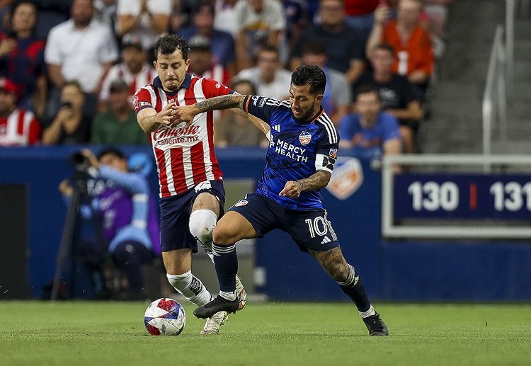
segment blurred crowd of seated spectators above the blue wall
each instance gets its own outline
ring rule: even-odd
[[[189,72],[245,93],[287,98],[292,70],[319,65],[340,135],[360,120],[344,147],[387,151],[387,137],[363,131],[384,129],[354,103],[358,88],[375,86],[399,151],[415,152],[452,1],[2,0],[0,146],[147,144],[130,99],[156,76],[156,39],[175,33],[188,41]],[[215,119],[217,147],[263,146],[234,132],[243,125],[231,112]]]

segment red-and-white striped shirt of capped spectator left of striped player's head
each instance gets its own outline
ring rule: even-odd
[[[136,75],[131,74],[127,65],[122,62],[121,64],[115,64],[110,67],[109,71],[103,76],[101,82],[101,91],[98,96],[101,102],[109,100],[110,83],[115,80],[123,80],[129,85],[130,95],[133,95],[138,88],[144,85],[151,84],[156,76],[156,70],[150,64],[144,64],[142,70]]]

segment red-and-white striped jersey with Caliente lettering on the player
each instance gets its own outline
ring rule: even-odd
[[[192,105],[230,93],[232,89],[218,81],[191,74],[186,74],[178,91],[170,93],[163,90],[156,77],[153,84],[139,88],[132,105],[136,113],[144,108],[160,112],[169,101]],[[223,179],[214,151],[212,112],[196,115],[187,129],[184,125],[182,122],[176,127],[161,126],[148,135],[159,172],[161,198],[185,193],[204,181]]]

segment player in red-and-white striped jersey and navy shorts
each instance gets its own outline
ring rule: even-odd
[[[132,99],[137,121],[152,144],[160,183],[161,251],[171,285],[193,304],[207,304],[212,295],[191,271],[198,242],[212,258],[212,229],[223,215],[225,191],[217,162],[212,112],[198,114],[193,125],[175,121],[176,105],[234,93],[222,83],[188,74],[187,42],[165,35],[155,43],[157,76]],[[258,123],[258,122],[257,122]],[[213,261],[213,258],[212,258]],[[239,306],[246,292],[237,282]],[[202,333],[218,333],[226,311],[212,314]]]

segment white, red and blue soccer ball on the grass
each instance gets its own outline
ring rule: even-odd
[[[147,307],[144,324],[153,336],[177,336],[186,324],[183,305],[167,297],[157,299]]]

